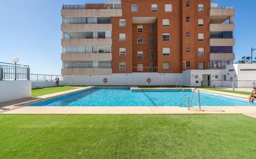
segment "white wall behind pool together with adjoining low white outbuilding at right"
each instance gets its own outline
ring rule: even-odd
[[[241,71],[250,69],[250,71]],[[227,66],[227,69],[207,69],[207,70],[188,70],[182,74],[158,74],[158,73],[132,73],[132,74],[112,74],[112,75],[65,75],[63,77],[65,85],[187,85],[200,87],[203,75],[210,75],[211,81],[223,81],[226,75],[227,82],[215,82],[226,87],[231,87],[229,80],[255,80],[256,64],[234,64]],[[103,79],[107,79],[105,84]],[[147,79],[152,81],[150,84]],[[213,86],[213,84],[211,83]]]

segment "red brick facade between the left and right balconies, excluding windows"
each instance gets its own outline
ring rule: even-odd
[[[149,67],[155,63],[159,73],[180,73],[185,69],[185,61],[190,62],[187,69],[198,69],[199,62],[204,68],[209,65],[209,8],[210,0],[122,0],[122,17],[112,17],[112,72],[137,72],[137,64]],[[186,3],[190,2],[187,7]],[[132,12],[132,4],[138,5],[138,11]],[[158,11],[152,12],[152,4]],[[165,4],[172,4],[172,12],[165,12]],[[198,4],[204,4],[204,12],[198,11]],[[190,22],[186,22],[186,17]],[[132,17],[156,17],[155,33],[149,32],[150,24],[134,24]],[[119,27],[119,20],[126,19],[126,27]],[[170,19],[170,26],[163,26],[162,19]],[[198,26],[198,19],[204,19],[204,26]],[[143,26],[143,32],[137,32],[137,26]],[[190,32],[190,37],[186,37]],[[119,33],[126,33],[126,41],[119,41]],[[163,41],[163,33],[170,33],[170,40]],[[198,33],[204,33],[204,41],[198,41]],[[143,45],[137,45],[137,38],[143,38]],[[149,45],[149,38],[155,37],[155,46]],[[189,46],[190,51],[186,51]],[[119,56],[119,48],[126,48],[126,56]],[[170,48],[170,55],[163,56],[163,48]],[[198,56],[198,48],[204,48],[204,55]],[[155,59],[149,58],[149,50],[155,49]],[[138,58],[137,51],[144,51],[144,57]],[[119,62],[126,62],[126,70],[119,70]],[[163,62],[170,62],[170,69],[163,70]]]

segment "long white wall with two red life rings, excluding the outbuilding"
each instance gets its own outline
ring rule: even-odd
[[[107,83],[103,79],[107,79]],[[176,85],[182,74],[132,73],[112,75],[65,75],[66,85]],[[151,79],[150,84],[147,79]]]

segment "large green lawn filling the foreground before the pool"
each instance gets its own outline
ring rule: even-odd
[[[243,115],[1,114],[0,158],[255,158]]]

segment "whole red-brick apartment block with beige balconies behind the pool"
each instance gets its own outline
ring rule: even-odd
[[[183,74],[233,64],[234,9],[210,0],[63,5],[62,75]]]

